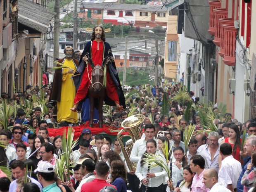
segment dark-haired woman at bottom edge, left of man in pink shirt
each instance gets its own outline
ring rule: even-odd
[[[184,180],[180,180],[177,184],[178,187],[176,188],[175,186],[173,186],[172,182],[168,181],[168,187],[175,188],[174,191],[177,191],[177,192],[190,192],[194,175],[195,173],[191,171],[190,165],[186,165],[183,168]]]

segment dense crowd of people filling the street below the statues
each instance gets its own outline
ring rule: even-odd
[[[62,135],[49,136],[48,130],[56,124],[51,121],[53,107],[46,102],[48,112],[45,114],[40,107],[35,107],[30,116],[18,108],[17,116],[9,119],[8,126],[12,127],[12,131],[0,131],[0,166],[7,166],[12,171],[11,183],[5,178],[7,175],[0,172],[3,176],[0,178],[0,188],[3,187],[0,191],[5,191],[6,187],[1,183],[8,184],[10,192],[24,191],[26,187],[39,191],[98,192],[106,186],[114,186],[112,190],[118,192],[256,191],[256,122],[253,119],[239,123],[231,119],[231,114],[221,114],[217,107],[213,107],[211,112],[223,118],[216,118],[212,122],[218,130],[206,133],[199,112],[206,110],[205,106],[196,98],[193,100],[192,93],[188,100],[193,100],[196,107],[192,110],[193,118],[188,122],[184,119],[186,105],[175,101],[179,91],[182,92],[178,85],[176,93],[173,93],[176,85],[166,89],[155,88],[156,97],[147,94],[149,85],[144,89],[139,86],[133,90],[127,89],[130,96],[126,110],[113,107],[111,115],[105,116],[104,121],[108,126],[121,128],[122,121],[131,114],[145,116],[141,123],[144,130],[142,138],[135,141],[130,152],[129,160],[137,164],[136,168],[128,168],[117,138],[113,142],[111,137],[93,135],[91,128],[85,128],[81,133],[83,140],[71,153],[71,158],[76,162],[72,167],[73,175],[65,174],[64,180],[60,180],[55,173],[55,163],[62,152],[63,138]],[[5,93],[1,96],[2,100],[19,104],[33,102],[29,96],[38,96],[38,93],[45,93],[47,100],[50,91],[50,85],[44,85],[40,92],[28,85],[28,90],[15,94],[13,98]],[[143,93],[143,96],[139,96]],[[166,115],[161,114],[164,96],[173,99]],[[133,105],[135,109],[132,109]],[[69,126],[68,123],[62,121],[59,126]],[[194,125],[194,131],[185,151],[183,134],[190,125]],[[79,126],[79,123],[73,123],[73,126]],[[243,134],[244,130],[246,134]],[[159,137],[159,131],[164,131],[164,135]],[[243,137],[246,137],[244,143]],[[171,149],[168,159],[163,150],[166,142],[168,149]],[[145,161],[146,154],[159,155],[166,160],[171,167],[171,180],[168,180],[162,166],[149,166]],[[30,176],[26,177],[26,174]],[[24,182],[26,179],[28,182]]]

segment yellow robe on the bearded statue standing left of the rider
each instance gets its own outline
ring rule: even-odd
[[[69,66],[71,69],[75,69],[76,66],[73,63],[72,59],[65,59],[64,65]],[[69,68],[63,68],[62,74],[62,91],[60,96],[60,102],[57,102],[57,121],[68,121],[68,122],[77,122],[77,113],[70,110],[74,104],[74,98],[76,97],[76,87],[73,85],[73,80],[70,79],[72,74],[68,73]],[[52,90],[54,91],[54,90]]]

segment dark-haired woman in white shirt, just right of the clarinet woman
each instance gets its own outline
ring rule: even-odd
[[[176,186],[179,180],[183,180],[183,167],[188,163],[185,158],[184,149],[180,146],[173,149],[175,161],[172,161],[172,180],[173,186]],[[170,164],[168,164],[170,167]]]

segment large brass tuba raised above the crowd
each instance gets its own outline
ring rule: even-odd
[[[145,116],[140,114],[128,117],[122,122],[123,129],[119,131],[116,136],[130,171],[136,169],[136,165],[130,161],[130,153],[133,149],[133,144],[135,141],[142,137],[143,133],[141,123],[144,121],[144,119]],[[129,135],[122,135],[124,132],[128,132]],[[123,137],[131,137],[131,140],[126,142],[126,147],[123,145]]]

